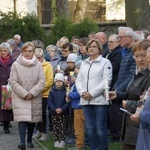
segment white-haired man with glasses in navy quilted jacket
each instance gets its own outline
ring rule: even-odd
[[[124,49],[122,50],[123,58],[120,65],[118,79],[113,86],[113,89],[124,92],[126,91],[126,88],[135,72],[136,65],[132,53],[132,46],[135,43],[135,34],[133,29],[130,27],[119,27],[118,30],[120,46],[124,47]]]

